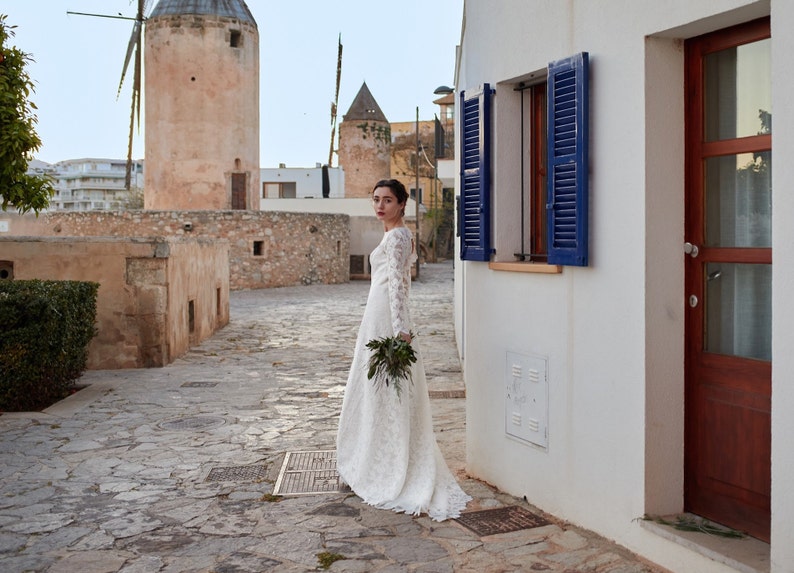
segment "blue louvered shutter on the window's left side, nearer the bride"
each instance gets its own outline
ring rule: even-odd
[[[461,92],[460,258],[491,259],[491,88]]]

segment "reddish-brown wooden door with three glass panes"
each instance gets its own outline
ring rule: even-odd
[[[685,508],[769,540],[769,20],[686,46]]]

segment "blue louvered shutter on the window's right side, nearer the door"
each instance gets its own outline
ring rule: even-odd
[[[549,64],[548,262],[588,263],[588,54]]]

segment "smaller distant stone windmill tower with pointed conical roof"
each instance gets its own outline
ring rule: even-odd
[[[339,165],[345,171],[345,197],[368,197],[391,173],[391,128],[367,87],[361,86],[339,124]]]

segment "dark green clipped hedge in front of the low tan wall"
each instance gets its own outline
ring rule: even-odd
[[[0,411],[41,410],[85,371],[98,283],[0,281]]]

